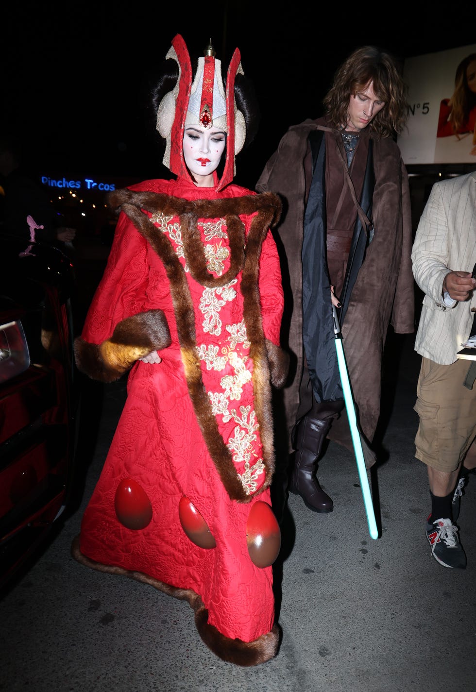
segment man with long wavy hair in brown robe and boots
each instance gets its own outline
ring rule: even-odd
[[[289,128],[257,183],[287,208],[277,235],[289,277],[282,338],[294,365],[284,390],[290,490],[319,513],[333,510],[315,477],[324,440],[353,448],[340,415],[333,305],[367,467],[376,460],[389,323],[398,333],[414,331],[408,176],[395,142],[408,103],[396,60],[374,46],[358,48],[336,72],[324,107],[324,117]]]

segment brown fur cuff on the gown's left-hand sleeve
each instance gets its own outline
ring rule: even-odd
[[[170,346],[170,331],[162,310],[149,310],[122,320],[111,338],[96,345],[77,337],[77,369],[101,382],[118,380],[138,358]]]

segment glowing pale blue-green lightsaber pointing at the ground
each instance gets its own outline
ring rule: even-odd
[[[372,538],[378,538],[378,529],[375,521],[374,503],[372,502],[372,494],[370,493],[369,479],[367,477],[367,468],[365,467],[364,453],[362,442],[360,441],[360,433],[357,427],[356,407],[354,397],[349,381],[349,372],[347,363],[345,362],[344,347],[342,346],[342,334],[340,332],[340,324],[337,316],[336,306],[332,306],[332,314],[334,318],[334,334],[336,334],[336,351],[337,362],[339,366],[340,381],[342,383],[342,392],[344,392],[345,409],[349,419],[352,444],[356,455],[358,477],[360,478],[360,488],[364,499],[365,512],[367,513],[367,523],[369,525],[369,534]]]

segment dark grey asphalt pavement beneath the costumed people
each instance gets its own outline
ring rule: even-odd
[[[318,477],[334,511],[315,514],[290,495],[275,563],[282,641],[255,668],[215,656],[184,601],[71,557],[126,396],[124,379],[84,380],[73,509],[0,600],[0,690],[476,692],[476,480],[459,516],[468,567],[446,569],[425,537],[413,344],[391,334],[385,353],[380,461],[370,475],[379,537],[369,535],[354,455],[329,443]]]

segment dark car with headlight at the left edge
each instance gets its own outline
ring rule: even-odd
[[[0,244],[1,589],[68,507],[80,396],[71,261],[47,244]]]

